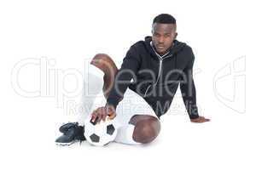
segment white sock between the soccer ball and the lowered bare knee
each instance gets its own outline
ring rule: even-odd
[[[125,126],[119,127],[115,142],[122,144],[140,144],[132,139],[132,134],[134,131],[134,125],[127,124]]]

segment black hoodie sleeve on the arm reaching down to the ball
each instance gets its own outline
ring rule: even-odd
[[[110,90],[107,105],[113,105],[116,109],[120,99],[123,98],[126,89],[131,84],[131,78],[137,74],[140,63],[141,59],[136,48],[131,46],[123,59],[121,68],[114,78],[113,88]]]

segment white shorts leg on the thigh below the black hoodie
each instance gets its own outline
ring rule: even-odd
[[[116,118],[121,125],[127,124],[134,115],[149,115],[157,117],[154,110],[139,94],[127,88],[124,98],[116,108]],[[158,117],[157,117],[158,118]]]

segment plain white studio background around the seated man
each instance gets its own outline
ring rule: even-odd
[[[0,168],[255,169],[251,2],[1,1]],[[150,35],[152,20],[161,13],[177,19],[177,39],[194,49],[197,103],[212,122],[189,122],[177,94],[152,144],[55,146],[57,128],[68,120],[65,108],[42,91],[40,65],[20,69],[18,81],[26,91],[41,92],[38,97],[16,91],[15,65],[46,59],[52,71],[83,71],[84,59],[106,53],[120,66],[131,44]],[[73,81],[59,81],[73,88]]]

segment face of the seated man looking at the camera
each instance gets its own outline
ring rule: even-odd
[[[177,37],[175,24],[154,23],[152,26],[152,42],[157,53],[166,54]]]

